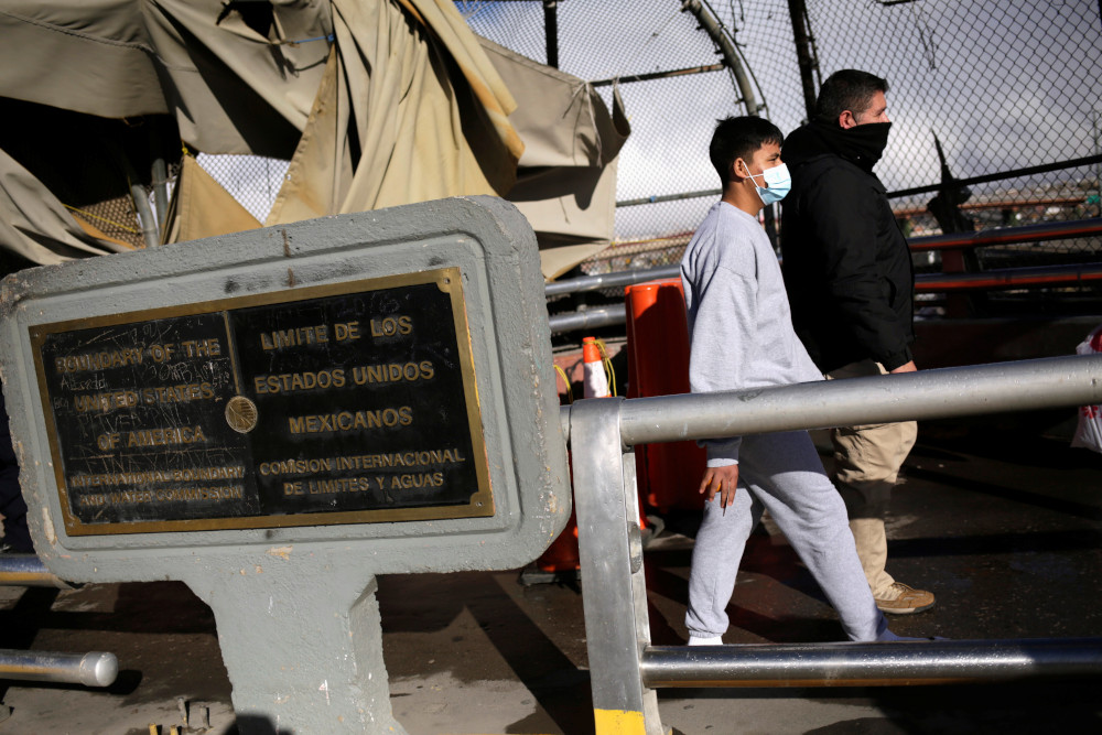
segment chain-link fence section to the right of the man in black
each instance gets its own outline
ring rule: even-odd
[[[845,4],[807,3],[820,67],[867,68],[889,80],[895,125],[877,172],[889,192],[927,190],[894,197],[908,235],[942,233],[928,208],[942,165],[958,180],[985,180],[964,187],[965,231],[1102,214],[1099,164],[1074,163],[1100,153],[1098,2]],[[1100,245],[1056,240],[976,256],[983,269],[1047,266],[1096,260]]]

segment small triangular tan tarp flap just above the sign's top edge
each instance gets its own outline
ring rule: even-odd
[[[165,219],[165,242],[186,242],[260,227],[257,218],[191,155],[180,161],[180,176]]]

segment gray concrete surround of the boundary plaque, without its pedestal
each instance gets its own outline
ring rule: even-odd
[[[472,445],[468,458],[480,469],[462,510],[437,504],[424,516],[372,508],[294,520],[289,514],[262,523],[170,518],[107,533],[74,522],[57,466],[64,447],[60,456],[52,446],[55,428],[43,411],[51,400],[41,372],[48,366],[35,357],[43,337],[363,292],[444,272],[458,273],[450,318],[460,320],[456,346],[471,366],[463,382],[469,406],[464,432],[482,444]],[[571,507],[542,287],[531,227],[494,197],[326,217],[9,277],[0,303],[0,366],[40,555],[75,582],[183,579],[181,556],[207,564],[217,555],[239,558],[246,548],[267,554],[291,544],[295,555],[309,551],[317,559],[339,550],[342,568],[369,564],[377,574],[528,563],[565,525]]]

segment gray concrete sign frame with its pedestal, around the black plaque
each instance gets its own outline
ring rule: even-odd
[[[442,313],[446,310],[433,313],[453,323],[464,321],[454,329],[455,347],[468,350],[460,363],[471,369],[454,383],[464,393],[457,413],[462,433],[482,443],[477,457],[472,448],[469,463],[485,468],[471,484],[462,514],[404,519],[369,512],[363,518],[306,514],[315,516],[313,525],[281,526],[269,519],[266,527],[250,528],[222,521],[197,528],[187,525],[195,519],[162,519],[126,533],[83,533],[83,525],[66,518],[65,475],[56,466],[67,456],[66,445],[52,444],[58,426],[47,425],[46,419],[52,397],[44,375],[51,363],[43,360],[42,349],[51,339],[73,346],[79,335],[66,336],[75,334],[72,329],[152,324],[155,320],[148,320],[160,314],[199,312],[173,318],[207,324],[204,320],[225,321],[230,313],[226,310],[242,303],[260,304],[245,311],[268,313],[284,309],[283,303],[313,303],[312,294],[374,293],[364,289],[376,285],[406,283],[397,288],[412,293],[428,288],[417,283],[430,281],[440,293],[435,284],[443,279],[452,280],[446,284],[451,315]],[[199,333],[188,329],[183,338],[194,342]],[[184,332],[181,327],[174,334]],[[203,344],[207,356],[219,359],[222,347],[230,347]],[[137,359],[136,347],[127,348]],[[198,354],[199,348],[193,344],[188,349]],[[80,353],[69,357],[80,368]],[[235,357],[244,359],[241,353]],[[121,354],[119,358],[125,361]],[[87,359],[91,365],[93,358]],[[108,363],[114,369],[115,358],[109,356]],[[282,376],[291,370],[284,371],[278,359],[272,365],[280,370],[276,382],[287,385]],[[248,369],[253,377],[259,372]],[[457,364],[450,375],[460,372]],[[323,217],[20,271],[0,284],[0,375],[31,537],[50,571],[72,582],[187,584],[214,610],[235,709],[259,715],[272,727],[403,732],[390,709],[376,576],[517,569],[537,559],[570,517],[570,473],[536,236],[516,207],[495,197]],[[295,388],[294,378],[289,380]],[[267,379],[262,383],[272,387]],[[156,386],[152,388],[158,393]],[[207,393],[226,398],[229,414],[216,412],[215,418],[223,422],[219,431],[227,425],[237,431],[264,421],[269,412],[258,403],[253,414],[245,402],[251,400],[248,391],[241,388],[235,386],[233,396],[218,393],[214,385],[183,390],[190,397],[197,390],[212,402]],[[64,421],[71,420],[78,400],[68,399],[72,410]],[[87,401],[86,407],[106,401],[108,408],[138,411],[132,396],[93,393],[79,400]],[[168,415],[174,409],[164,410]],[[191,415],[180,410],[179,415]],[[411,415],[415,420],[417,414]],[[134,418],[139,420],[143,414]],[[168,441],[161,431],[156,441]],[[454,433],[453,428],[447,432]],[[121,437],[125,431],[117,433]],[[196,436],[193,430],[192,439]],[[110,448],[112,440],[104,441]],[[483,499],[482,508],[477,498]],[[210,520],[201,522],[209,526]]]

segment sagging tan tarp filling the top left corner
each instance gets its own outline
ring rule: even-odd
[[[287,42],[324,39],[329,3],[270,8],[261,35],[220,0],[9,0],[0,95],[107,118],[168,112],[195,150],[288,155],[327,44]]]

